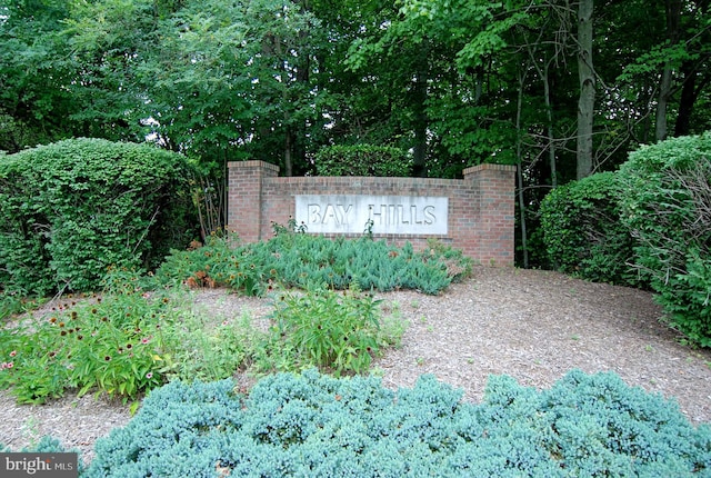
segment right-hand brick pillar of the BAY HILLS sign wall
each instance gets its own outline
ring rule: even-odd
[[[479,191],[478,253],[484,266],[513,266],[515,166],[479,165],[463,171]]]

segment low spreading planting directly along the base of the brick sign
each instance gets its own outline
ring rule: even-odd
[[[213,236],[197,250],[173,251],[157,270],[156,280],[227,286],[248,295],[264,293],[277,282],[438,293],[471,272],[470,259],[451,248],[433,246],[414,252],[409,243],[398,248],[365,237],[331,240],[292,233],[283,227],[276,230],[280,233],[269,241],[238,246],[233,238]]]

